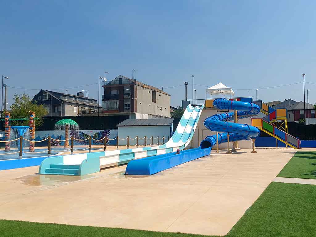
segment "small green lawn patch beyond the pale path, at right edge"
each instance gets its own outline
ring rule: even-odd
[[[316,179],[316,152],[296,152],[277,177]]]

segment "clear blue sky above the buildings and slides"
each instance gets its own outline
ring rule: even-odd
[[[0,75],[13,94],[96,83],[119,74],[164,89],[177,106],[184,86],[222,82],[235,96],[316,83],[315,1],[2,1]],[[310,103],[316,100],[316,84]],[[203,86],[195,86],[205,98]],[[88,89],[97,98],[97,85]],[[66,92],[65,90],[59,90]],[[101,90],[102,91],[102,90]],[[191,85],[188,96],[191,98]],[[303,85],[260,89],[265,102],[303,100]]]

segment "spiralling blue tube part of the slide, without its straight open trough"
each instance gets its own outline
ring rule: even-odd
[[[213,101],[213,106],[218,109],[239,110],[237,116],[239,119],[252,117],[260,112],[260,107],[256,104],[243,101],[226,100],[225,98]],[[204,125],[211,131],[225,132],[218,134],[218,144],[227,142],[227,133],[229,141],[256,139],[260,135],[260,130],[247,124],[235,124],[227,121],[234,120],[234,112],[215,114],[205,119]],[[216,135],[208,136],[201,142],[201,148],[208,148],[216,145]]]

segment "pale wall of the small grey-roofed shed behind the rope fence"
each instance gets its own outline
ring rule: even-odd
[[[162,137],[165,136],[165,143],[168,141],[168,136],[170,136],[170,126],[119,126],[119,138],[130,137],[130,145],[136,145],[136,136],[139,137],[138,144],[144,144],[144,136],[151,138],[153,136],[153,143],[157,144],[157,137],[159,136],[159,144],[162,144]],[[119,140],[119,145],[126,145],[127,140]],[[146,144],[151,144],[151,140],[147,139]]]

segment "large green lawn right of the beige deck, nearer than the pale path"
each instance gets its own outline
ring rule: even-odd
[[[307,237],[316,233],[316,185],[272,182],[227,237]]]

